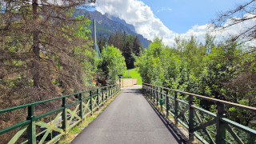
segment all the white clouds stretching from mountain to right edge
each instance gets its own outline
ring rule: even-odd
[[[238,25],[230,26],[226,30],[212,31],[213,24],[206,24],[202,26],[192,26],[184,34],[175,34],[172,30],[168,29],[159,18],[156,18],[150,6],[139,0],[97,0],[96,9],[102,14],[108,13],[119,18],[124,19],[128,24],[135,27],[138,34],[142,34],[145,38],[153,40],[155,36],[163,38],[166,45],[173,46],[175,36],[180,35],[181,38],[190,38],[194,35],[198,38],[199,42],[204,42],[206,33],[216,35],[216,40],[222,40],[230,35],[239,34],[241,30],[248,26],[255,26],[256,19],[242,22]],[[170,8],[161,8],[160,11],[171,10]],[[246,14],[246,18],[252,17],[251,14]],[[226,26],[232,20],[227,20]]]

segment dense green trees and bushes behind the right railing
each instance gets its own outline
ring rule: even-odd
[[[238,42],[214,42],[209,34],[205,44],[192,36],[190,40],[176,38],[173,47],[155,38],[137,58],[136,65],[143,82],[255,107],[255,51],[244,47]],[[211,102],[196,103],[216,111]],[[255,128],[255,114],[226,108],[229,118]]]

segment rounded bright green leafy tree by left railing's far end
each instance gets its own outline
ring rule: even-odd
[[[107,46],[102,50],[102,59],[99,60],[98,70],[102,72],[110,84],[117,82],[118,74],[126,70],[125,58],[122,52],[114,46]]]

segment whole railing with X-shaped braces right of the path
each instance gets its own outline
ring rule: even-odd
[[[146,83],[142,84],[142,90],[159,107],[165,118],[173,117],[176,125],[180,122],[186,127],[190,141],[195,136],[203,143],[256,143],[256,130],[233,122],[225,116],[225,106],[234,106],[253,113],[256,112],[255,107]],[[195,106],[194,102],[198,98],[217,105],[216,114]]]

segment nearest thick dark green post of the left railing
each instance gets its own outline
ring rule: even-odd
[[[28,143],[34,144],[36,143],[36,137],[35,137],[35,120],[34,120],[34,106],[28,106],[28,116],[26,117],[26,120],[30,120],[30,125],[27,127],[27,139]]]

